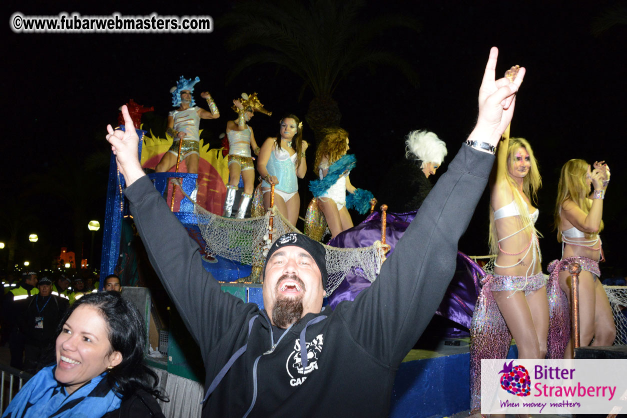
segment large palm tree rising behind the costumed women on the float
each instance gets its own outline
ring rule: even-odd
[[[375,48],[373,43],[388,29],[419,31],[418,21],[399,14],[364,18],[364,6],[361,0],[238,3],[219,19],[219,26],[233,27],[228,38],[233,50],[256,48],[234,65],[228,81],[258,64],[275,64],[292,71],[304,81],[300,98],[307,88],[314,93],[305,118],[319,139],[322,128],[339,125],[342,115],[333,93],[340,81],[357,68],[394,66],[413,85],[417,84],[418,76],[407,61],[396,53]]]

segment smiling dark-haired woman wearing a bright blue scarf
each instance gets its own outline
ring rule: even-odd
[[[163,417],[157,376],[144,364],[144,323],[115,291],[71,306],[56,338],[56,363],[18,392],[3,417]]]

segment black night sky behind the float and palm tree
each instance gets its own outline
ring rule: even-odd
[[[115,11],[209,14],[219,24],[220,16],[233,5],[86,3],[8,1],[3,6],[5,125],[0,190],[3,205],[17,205],[36,214],[42,245],[52,253],[72,245],[68,207],[49,196],[21,196],[26,187],[24,176],[46,173],[62,160],[66,164],[82,162],[88,154],[107,150],[104,128],[115,123],[117,109],[129,98],[154,106],[152,120],[163,121],[171,110],[168,90],[174,81],[180,75],[198,75],[201,83],[196,93],[211,91],[223,115],[218,121],[201,123],[213,136],[223,132],[227,118],[234,116],[229,103],[241,91],[257,91],[275,115],[288,110],[304,115],[312,98],[306,91],[298,102],[302,81],[270,65],[246,70],[225,85],[229,66],[238,56],[224,46],[228,29],[218,28],[211,34],[15,34],[7,24],[15,11],[24,15],[60,11],[83,15]],[[381,34],[377,40],[379,47],[396,51],[414,66],[420,85],[414,88],[398,71],[379,67],[375,73],[356,71],[337,88],[334,97],[342,110],[342,126],[349,130],[351,150],[359,159],[352,182],[369,188],[372,176],[386,172],[386,164],[403,149],[403,136],[413,129],[438,133],[448,145],[450,161],[472,130],[478,86],[490,46],[495,45],[501,51],[499,73],[514,64],[527,68],[512,135],[527,138],[540,163],[544,187],[539,194],[538,226],[546,237],[540,244],[544,265],[559,257],[559,244],[550,226],[559,169],[568,159],[584,158],[589,162],[605,159],[613,169],[604,213],[604,243],[607,265],[620,266],[620,239],[626,234],[626,222],[619,216],[617,191],[624,184],[619,162],[626,151],[623,122],[627,112],[624,65],[619,61],[624,61],[627,28],[616,26],[599,37],[591,34],[593,18],[616,1],[520,3],[396,1],[383,10],[381,2],[367,2],[366,16],[396,11],[423,24],[421,33],[403,29]],[[251,125],[256,136],[263,138],[275,133],[276,122],[258,115]],[[83,196],[72,178],[75,176],[68,174],[58,181]],[[101,184],[105,182],[102,177]],[[87,216],[102,220],[104,196],[89,199]],[[484,196],[460,244],[461,251],[486,253],[485,229]],[[0,240],[6,239],[2,234],[0,229]],[[87,234],[85,229],[88,245]]]

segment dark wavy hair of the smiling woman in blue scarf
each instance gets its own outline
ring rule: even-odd
[[[167,396],[157,388],[159,378],[144,363],[146,345],[144,320],[135,305],[124,299],[117,291],[88,293],[70,306],[61,320],[57,335],[61,333],[65,321],[72,312],[82,305],[89,305],[100,311],[108,325],[112,352],[122,354],[122,362],[107,374],[107,381],[113,391],[124,398],[135,394],[138,389],[143,389],[167,402]]]

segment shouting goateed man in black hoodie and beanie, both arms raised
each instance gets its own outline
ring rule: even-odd
[[[113,131],[126,196],[150,261],[198,342],[206,368],[203,417],[387,416],[396,370],[428,324],[455,271],[457,243],[481,196],[522,83],[495,80],[492,48],[477,125],[424,199],[372,286],[322,308],[324,247],[286,234],[268,251],[263,304],[223,293],[198,244],[137,161],[133,130]],[[176,251],[172,251],[172,249]]]

